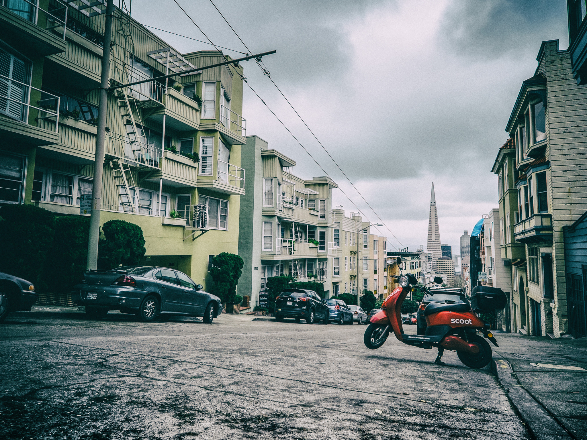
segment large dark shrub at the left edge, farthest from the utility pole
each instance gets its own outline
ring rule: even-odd
[[[37,283],[53,242],[55,215],[35,205],[4,205],[0,216],[0,270]]]

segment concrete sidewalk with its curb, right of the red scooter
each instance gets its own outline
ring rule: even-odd
[[[497,333],[491,368],[538,440],[587,440],[587,338]]]

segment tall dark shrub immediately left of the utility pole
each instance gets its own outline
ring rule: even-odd
[[[87,263],[90,219],[82,216],[55,219],[55,238],[45,262],[43,280],[53,292],[67,292],[82,280]]]

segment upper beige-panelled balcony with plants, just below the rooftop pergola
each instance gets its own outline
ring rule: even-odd
[[[152,119],[163,124],[163,115],[166,115],[165,124],[177,131],[198,130],[200,124],[200,107],[198,104],[184,94],[178,92],[173,87],[167,89],[163,94],[164,107],[157,109],[146,116],[146,119]]]

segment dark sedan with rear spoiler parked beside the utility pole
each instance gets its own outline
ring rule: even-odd
[[[72,301],[86,306],[98,318],[109,310],[133,313],[141,321],[157,316],[201,316],[205,323],[222,313],[220,298],[179,270],[156,266],[124,266],[112,270],[86,270],[84,281],[72,291]]]

